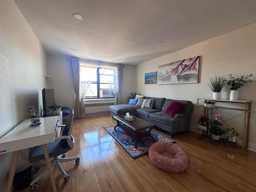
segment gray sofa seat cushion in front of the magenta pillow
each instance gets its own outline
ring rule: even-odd
[[[167,125],[178,126],[178,119],[175,119],[170,115],[165,114],[163,111],[150,113],[148,117],[152,120],[155,120]]]

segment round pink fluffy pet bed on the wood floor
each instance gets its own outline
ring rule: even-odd
[[[169,172],[182,172],[188,167],[185,152],[176,144],[156,142],[148,150],[151,162],[158,168]]]

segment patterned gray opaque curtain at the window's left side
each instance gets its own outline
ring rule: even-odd
[[[74,118],[80,118],[80,64],[78,58],[70,58],[70,70],[72,76],[72,83],[74,86],[74,91],[76,94],[75,108],[74,108]]]

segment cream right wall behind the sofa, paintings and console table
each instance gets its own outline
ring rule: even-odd
[[[161,56],[159,58],[137,65],[137,88],[136,90],[145,96],[165,97],[177,100],[190,100],[196,104],[197,98],[212,98],[212,92],[207,83],[209,77],[214,74],[254,74],[254,82],[238,90],[240,99],[252,100],[252,114],[250,122],[251,148],[256,147],[256,24],[246,26],[233,32],[206,40],[188,48]],[[145,85],[144,74],[158,71],[158,66],[190,58],[200,57],[200,74],[198,84],[175,84],[175,85]],[[228,98],[228,88],[222,91],[223,98]],[[232,113],[228,111],[228,113]],[[237,113],[237,112],[236,112]],[[192,127],[196,122],[196,108],[191,120]],[[226,116],[226,119],[228,116]],[[241,123],[242,118],[238,121]],[[234,126],[236,120],[228,122]],[[242,125],[235,126],[242,132]],[[256,148],[255,148],[256,149]]]

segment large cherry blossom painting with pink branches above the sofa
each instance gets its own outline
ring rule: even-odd
[[[198,83],[200,56],[158,66],[157,84]]]

